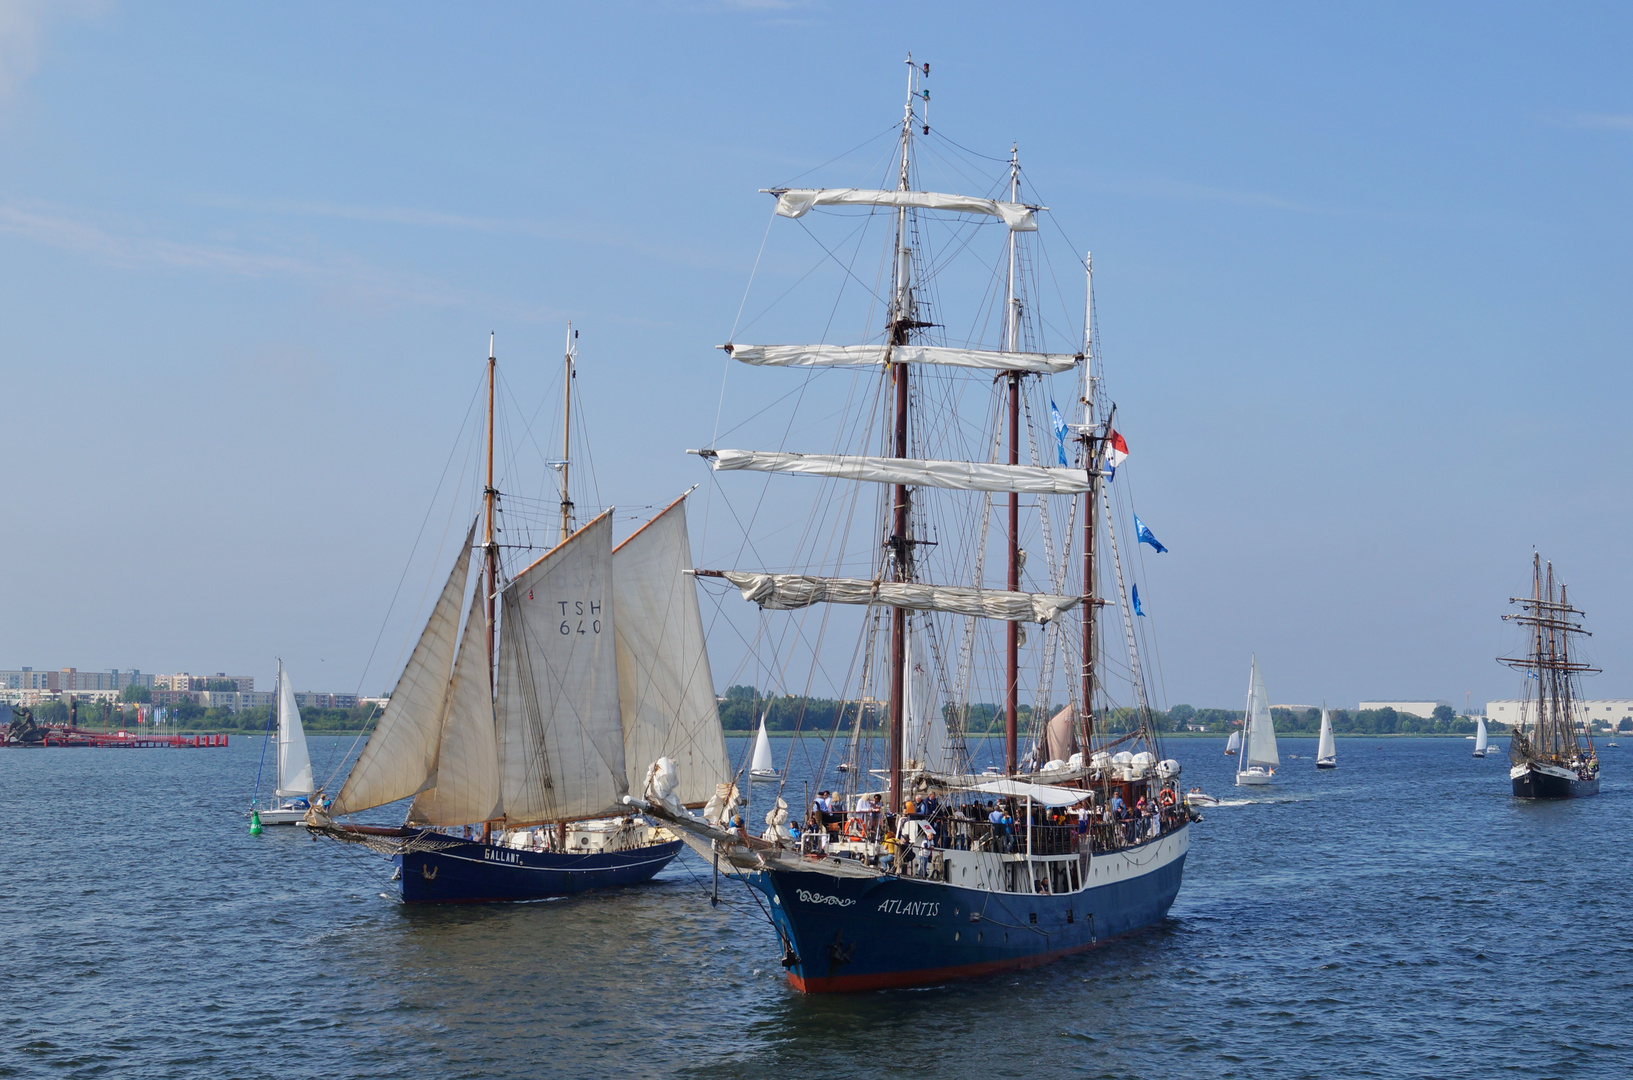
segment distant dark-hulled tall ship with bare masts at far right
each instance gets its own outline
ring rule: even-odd
[[[1576,730],[1576,685],[1582,675],[1599,668],[1571,655],[1571,637],[1587,634],[1582,613],[1566,600],[1561,583],[1555,588],[1553,564],[1532,556],[1532,595],[1511,596],[1519,613],[1502,616],[1527,631],[1524,657],[1497,657],[1501,663],[1525,673],[1520,693],[1520,719],[1509,739],[1509,779],[1520,799],[1581,799],[1599,794],[1599,753],[1594,737],[1582,724]]]

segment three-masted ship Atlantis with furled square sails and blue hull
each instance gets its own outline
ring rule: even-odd
[[[872,400],[872,410],[844,422],[843,430],[854,433],[849,449],[859,453],[694,451],[720,477],[722,497],[741,485],[730,479],[741,471],[823,477],[821,490],[838,495],[826,515],[813,513],[830,523],[867,521],[865,573],[828,572],[846,556],[805,567],[825,572],[697,573],[701,582],[735,587],[769,626],[800,618],[812,605],[865,609],[862,647],[833,650],[864,657],[859,693],[841,716],[856,735],[882,719],[885,768],[870,771],[852,737],[843,804],[813,810],[797,841],[781,801],[766,815],[763,837],[728,828],[736,802],[730,783],[720,784],[704,819],[684,814],[656,788],[630,797],[764,894],[789,980],[803,992],[923,985],[1092,948],[1163,918],[1189,845],[1172,783],[1179,765],[1163,758],[1153,729],[1138,649],[1143,627],[1132,618],[1125,554],[1115,544],[1109,479],[1124,441],[1110,426],[1114,407],[1094,369],[1092,291],[1081,343],[1073,340],[1073,351],[1037,348],[1050,328],[1035,310],[1035,278],[1032,286],[1024,278],[1040,255],[1019,240],[1037,230],[1045,208],[1021,198],[1014,154],[1008,190],[993,193],[1003,198],[944,194],[914,183],[916,136],[929,132],[923,85],[929,65],[908,62],[893,188],[771,191],[782,219],[834,208],[849,211],[852,222],[861,211],[857,234],[869,214],[888,222],[890,247],[879,263],[888,291],[867,292],[883,309],[883,327],[870,327],[856,345],[725,346],[732,359],[756,368],[849,369],[852,400]],[[1001,304],[996,348],[949,340],[942,325],[952,324],[952,307],[932,309],[941,304],[936,271],[960,252],[981,250],[990,235],[981,222],[1003,229],[1001,247],[985,252],[1001,266],[988,291],[991,310]],[[805,227],[831,253],[821,224]],[[932,227],[952,234],[939,250],[928,250]],[[1079,265],[1089,270],[1088,260]],[[1076,374],[1083,422],[1052,417],[1042,428],[1032,417],[1052,405],[1043,379],[1065,373]],[[960,446],[957,436],[975,426],[952,415],[960,395],[988,394],[985,430]],[[975,457],[970,443],[990,459]],[[1119,456],[1109,461],[1112,448]],[[776,482],[810,482],[797,477]],[[1019,539],[1022,505],[1042,547],[1030,559]],[[994,518],[1003,524],[990,528]],[[1001,552],[1001,587],[986,580],[988,536]],[[844,547],[843,538],[825,534],[821,542]],[[1112,596],[1099,587],[1107,570]],[[1099,634],[1106,606],[1122,616],[1112,667],[1130,688],[1122,707],[1109,704],[1102,676],[1112,652]],[[1030,636],[1024,624],[1032,624]],[[993,626],[1001,632],[986,629]],[[957,647],[955,627],[962,627]],[[983,663],[1001,680],[1004,742],[996,774],[973,773],[965,740],[972,670]],[[1024,681],[1035,691],[1029,722]],[[1052,699],[1061,693],[1065,703]]]

